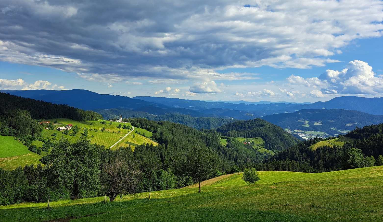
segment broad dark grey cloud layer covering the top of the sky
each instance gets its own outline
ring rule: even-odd
[[[241,79],[248,74],[213,70],[337,62],[329,57],[353,39],[381,36],[382,8],[379,0],[2,0],[0,60],[95,81]]]

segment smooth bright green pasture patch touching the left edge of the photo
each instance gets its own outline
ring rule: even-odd
[[[13,136],[0,136],[0,159],[28,154],[28,147]]]

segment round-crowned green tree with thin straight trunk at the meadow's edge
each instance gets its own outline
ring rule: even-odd
[[[193,152],[186,156],[185,171],[199,183],[198,193],[201,193],[201,181],[209,178],[218,166],[218,156],[206,147],[193,147]]]

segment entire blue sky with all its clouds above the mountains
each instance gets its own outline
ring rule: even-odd
[[[0,90],[383,96],[381,0],[2,0]]]

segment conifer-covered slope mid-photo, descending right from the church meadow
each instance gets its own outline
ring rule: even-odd
[[[247,163],[262,162],[264,154],[252,147],[228,145],[221,146],[220,137],[214,130],[196,130],[191,127],[166,121],[155,122],[143,118],[130,119],[133,126],[153,132],[153,141],[163,144],[164,149],[157,149],[157,156],[165,166],[172,165],[175,158],[183,158],[191,152],[193,146],[206,146],[218,154],[221,172],[230,172],[234,165],[242,167]],[[237,142],[239,143],[239,142]],[[142,147],[136,147],[137,151]],[[136,150],[134,151],[136,152]]]

